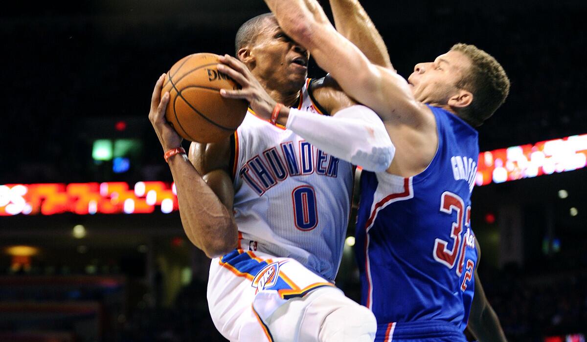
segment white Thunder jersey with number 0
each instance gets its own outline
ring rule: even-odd
[[[307,79],[298,109],[320,115]],[[234,216],[240,247],[298,260],[335,279],[349,221],[353,168],[249,109],[236,133]]]

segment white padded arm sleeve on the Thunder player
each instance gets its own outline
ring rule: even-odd
[[[383,121],[360,104],[340,110],[336,116],[292,108],[285,127],[322,151],[367,171],[387,170],[396,153]]]

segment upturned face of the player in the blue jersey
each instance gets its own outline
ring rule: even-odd
[[[447,104],[458,93],[458,80],[467,73],[471,61],[458,51],[449,51],[434,62],[418,63],[408,77],[411,92],[422,103]]]

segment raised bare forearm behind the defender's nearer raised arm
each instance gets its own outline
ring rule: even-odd
[[[350,40],[375,65],[393,69],[387,47],[358,0],[330,0],[336,31]]]

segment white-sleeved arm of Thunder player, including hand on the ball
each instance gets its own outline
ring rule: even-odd
[[[383,121],[377,114],[365,106],[351,106],[341,109],[342,104],[350,106],[350,100],[342,92],[330,91],[327,107],[335,116],[322,116],[285,106],[276,106],[276,101],[269,96],[255,76],[238,59],[225,55],[220,58],[224,64],[218,70],[230,76],[242,89],[220,90],[224,97],[245,99],[255,113],[261,117],[288,117],[286,127],[309,143],[328,154],[360,165],[369,171],[385,171],[392,163],[395,147],[387,134]],[[319,93],[325,95],[326,89]],[[326,97],[326,96],[320,96]],[[340,103],[335,103],[338,100]],[[324,102],[323,102],[324,103]],[[274,108],[276,110],[274,110]],[[277,117],[272,118],[276,120]],[[336,139],[332,139],[336,137]],[[341,142],[344,143],[341,143]]]

